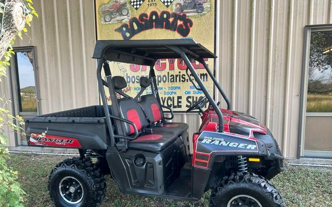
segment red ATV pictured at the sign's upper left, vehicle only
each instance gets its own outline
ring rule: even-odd
[[[110,4],[111,1],[99,9],[105,22],[111,22],[116,15],[120,14],[122,16],[127,16],[129,14],[129,9],[125,0],[114,0],[113,3]]]

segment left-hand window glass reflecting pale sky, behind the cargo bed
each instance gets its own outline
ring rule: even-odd
[[[37,112],[32,51],[16,52],[20,112]]]

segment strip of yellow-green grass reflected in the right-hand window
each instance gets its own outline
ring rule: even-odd
[[[306,112],[332,113],[332,94],[308,94]]]

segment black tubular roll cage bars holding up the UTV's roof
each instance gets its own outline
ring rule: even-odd
[[[227,96],[224,93],[224,91],[221,89],[221,86],[217,82],[216,78],[214,78],[213,74],[211,73],[211,71],[210,71],[208,65],[206,64],[206,62],[204,61],[204,59],[202,57],[200,57],[197,53],[192,52],[192,51],[188,50],[187,48],[184,48],[184,47],[181,47],[181,46],[177,46],[177,45],[165,45],[165,47],[168,48],[168,49],[170,49],[171,51],[173,51],[175,54],[179,55],[179,58],[183,59],[183,61],[187,65],[187,70],[186,70],[187,75],[189,76],[189,74],[188,74],[188,70],[189,70],[190,73],[191,73],[191,76],[193,76],[194,79],[196,80],[196,82],[198,83],[199,89],[194,84],[192,78],[189,76],[190,81],[194,84],[194,86],[195,86],[195,88],[197,90],[201,90],[205,94],[206,98],[208,99],[208,101],[210,102],[211,106],[213,107],[215,113],[218,116],[218,119],[219,119],[218,132],[223,132],[223,130],[224,130],[224,119],[223,119],[223,115],[222,115],[222,113],[221,113],[221,111],[220,111],[217,103],[215,103],[215,101],[213,100],[210,92],[205,87],[205,85],[202,82],[202,80],[199,78],[199,76],[198,76],[197,72],[195,71],[194,67],[192,66],[192,64],[191,64],[191,62],[190,62],[187,54],[191,58],[193,58],[193,59],[195,59],[198,62],[200,62],[200,63],[203,64],[203,66],[206,69],[207,73],[211,77],[213,83],[216,85],[218,91],[220,92],[220,94],[224,98],[225,102],[227,103],[227,109],[230,110],[231,109],[231,103],[230,103],[229,99],[227,98]],[[113,49],[110,49],[109,52],[112,51],[112,50]],[[118,51],[118,53],[124,54],[124,52],[121,52],[121,51],[120,52]],[[138,130],[137,130],[137,128],[136,128],[136,126],[135,126],[134,123],[132,123],[129,120],[122,119],[119,116],[119,107],[117,105],[118,102],[117,102],[115,94],[114,94],[115,91],[114,91],[113,84],[112,84],[111,71],[110,71],[110,68],[109,68],[108,64],[105,62],[105,60],[110,57],[109,55],[110,55],[110,53],[108,53],[108,55],[103,55],[102,57],[100,57],[98,59],[98,64],[97,64],[98,88],[99,88],[99,93],[100,93],[101,100],[102,100],[102,103],[103,103],[103,108],[104,108],[104,111],[105,111],[105,119],[106,119],[107,127],[108,127],[108,130],[109,130],[110,138],[111,138],[111,145],[115,146],[115,144],[116,144],[115,143],[115,138],[118,138],[119,141],[122,142],[122,144],[119,144],[120,143],[119,142],[119,143],[117,143],[117,146],[119,144],[119,147],[122,146],[122,147],[125,148],[125,146],[126,146],[126,141],[125,140],[126,139],[135,139],[135,138],[138,137],[139,133],[138,133]],[[125,55],[133,56],[133,57],[141,57],[140,55],[135,55],[135,54],[131,54],[131,53],[125,53]],[[145,58],[147,58],[147,57],[145,57]],[[157,57],[155,57],[155,58],[158,59]],[[124,59],[124,60],[127,61],[127,59]],[[124,60],[119,59],[118,61],[122,62]],[[117,61],[117,60],[113,60],[113,61]],[[155,79],[155,75],[154,75],[154,71],[153,71],[153,65],[154,65],[153,63],[155,62],[155,59],[149,58],[149,61],[151,61],[150,78],[152,78],[152,79],[154,78]],[[106,64],[106,66],[107,66],[106,68],[104,68],[105,76],[106,76],[106,79],[107,79],[106,81],[103,80],[102,77],[101,77],[101,71],[102,71],[103,64]],[[105,67],[105,65],[104,65],[104,67]],[[151,74],[151,72],[153,74]],[[156,84],[156,81],[154,80],[153,83],[151,83],[151,85],[153,85],[155,87],[155,84]],[[115,111],[113,111],[113,115],[110,114],[110,111],[109,111],[109,108],[108,108],[108,104],[107,104],[107,100],[106,100],[106,94],[105,94],[105,90],[104,90],[103,86],[107,86],[109,88],[109,90],[110,90],[111,100],[112,100],[112,106],[113,106],[112,110],[115,110]],[[153,88],[151,88],[151,89],[152,89],[152,91],[154,91]],[[158,94],[155,94],[155,95],[157,96]],[[160,99],[158,101],[160,102]],[[164,105],[162,105],[162,107],[170,109],[169,107],[166,107]],[[171,110],[171,112],[172,112],[172,110]],[[113,124],[112,124],[111,118],[114,119],[114,122],[115,122],[115,125],[116,125],[116,130],[119,133],[117,135],[114,134]],[[173,113],[172,113],[172,118],[173,118]],[[122,125],[119,124],[119,122],[126,122],[127,124],[132,125],[133,128],[134,128],[134,131],[135,131],[134,136],[131,136],[131,137],[126,136],[126,134],[124,134],[124,131],[122,129]]]

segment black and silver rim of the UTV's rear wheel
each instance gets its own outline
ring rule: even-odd
[[[68,204],[78,204],[83,199],[84,189],[80,181],[72,176],[67,176],[59,182],[59,193]]]

